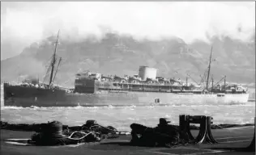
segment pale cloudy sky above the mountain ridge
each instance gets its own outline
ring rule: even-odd
[[[2,2],[1,60],[56,35],[79,41],[105,32],[136,40],[179,37],[190,44],[211,36],[249,40],[255,2]]]

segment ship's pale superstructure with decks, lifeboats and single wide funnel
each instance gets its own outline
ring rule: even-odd
[[[211,83],[210,88],[197,86],[192,83],[174,80],[173,78],[163,78],[156,76],[157,69],[140,66],[139,74],[133,76],[124,75],[118,77],[116,75],[103,75],[101,73],[77,73],[75,79],[75,92],[94,94],[104,91],[117,92],[159,92],[159,93],[192,93],[192,94],[243,94],[246,90],[242,86],[224,85]]]

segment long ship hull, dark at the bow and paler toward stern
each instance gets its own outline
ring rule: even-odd
[[[177,94],[163,92],[112,92],[96,94],[67,93],[65,90],[43,90],[34,87],[4,85],[4,106],[16,107],[100,107],[151,106],[177,104],[246,103],[249,94]]]

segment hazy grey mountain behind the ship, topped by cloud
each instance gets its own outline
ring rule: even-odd
[[[1,61],[1,81],[15,81],[19,76],[34,76],[42,80],[53,54],[56,36],[33,43],[19,56]],[[224,37],[211,38],[213,59],[211,74],[215,82],[227,75],[230,82],[254,82],[255,42],[243,42]],[[189,73],[199,82],[207,69],[211,44],[196,40],[186,44],[180,38],[159,41],[134,40],[132,36],[107,33],[102,40],[60,40],[58,56],[63,58],[56,83],[73,86],[75,73],[91,70],[104,74],[137,74],[139,65],[158,69],[166,78],[185,79]],[[190,78],[190,80],[192,80]]]

